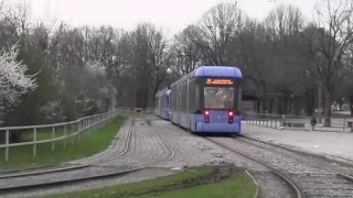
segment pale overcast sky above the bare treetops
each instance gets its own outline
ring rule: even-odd
[[[14,3],[22,0],[4,0]],[[196,23],[212,7],[235,0],[26,0],[34,18],[57,19],[72,25],[111,25],[133,30],[138,23],[151,22],[172,35]],[[238,0],[249,16],[263,20],[275,7],[285,3],[300,8],[312,16],[317,0]]]

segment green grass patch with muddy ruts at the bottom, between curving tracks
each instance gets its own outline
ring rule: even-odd
[[[193,167],[182,173],[157,179],[46,197],[254,197],[256,185],[244,172],[234,173],[218,183],[165,190],[168,187],[184,185],[188,180],[201,178],[212,172],[213,167],[211,166]]]

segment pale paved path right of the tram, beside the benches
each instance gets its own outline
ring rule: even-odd
[[[243,135],[353,162],[352,132],[277,130],[245,122],[242,130]]]

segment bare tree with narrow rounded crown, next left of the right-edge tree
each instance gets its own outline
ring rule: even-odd
[[[274,94],[281,96],[279,100],[284,103],[284,107],[279,108],[282,109],[281,113],[295,112],[295,110],[297,111],[295,113],[299,113],[300,107],[293,106],[298,103],[296,101],[299,100],[299,96],[307,91],[304,80],[298,80],[304,79],[306,70],[309,69],[308,61],[302,53],[304,44],[300,36],[303,19],[298,8],[279,6],[264,21],[265,41],[269,51],[266,55],[265,74],[269,72],[266,82]],[[312,103],[311,107],[313,107]]]

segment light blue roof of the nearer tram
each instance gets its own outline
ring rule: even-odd
[[[186,79],[190,79],[193,77],[202,77],[202,76],[237,77],[237,78],[243,77],[240,69],[236,66],[200,66],[173,84],[180,84],[185,81]]]

